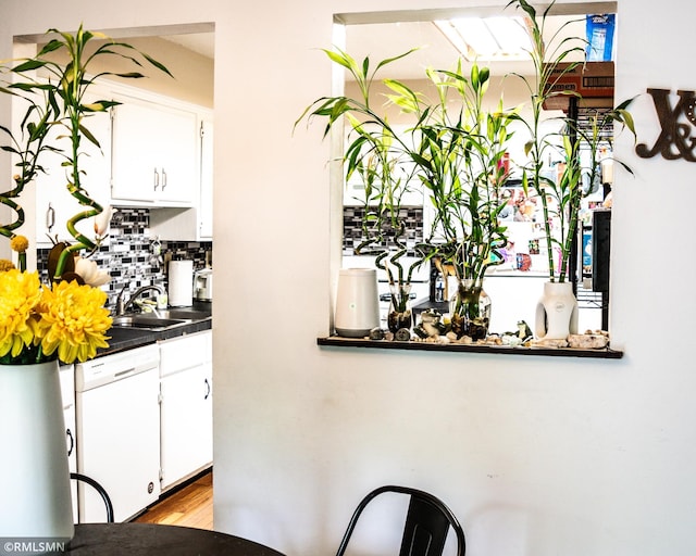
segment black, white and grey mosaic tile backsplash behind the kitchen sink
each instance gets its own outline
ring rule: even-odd
[[[125,287],[133,293],[141,286],[157,285],[166,290],[165,261],[194,261],[194,268],[203,268],[206,257],[210,260],[212,242],[162,241],[159,256],[152,249],[157,238],[149,233],[150,210],[119,207],[111,218],[109,238],[92,255],[100,268],[109,269],[111,281],[103,286],[109,294],[109,305],[116,302],[119,292]],[[44,280],[48,279],[48,249],[37,253],[38,267]],[[147,295],[146,295],[147,296]]]

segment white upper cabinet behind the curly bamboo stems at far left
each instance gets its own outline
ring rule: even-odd
[[[87,102],[103,99],[99,89],[95,89],[85,98]],[[89,193],[89,197],[103,207],[111,203],[111,117],[110,112],[98,112],[86,116],[84,125],[99,141],[99,147],[83,138],[79,152],[80,186]],[[71,141],[67,137],[57,140],[58,136],[65,135],[64,128],[53,127],[48,142],[63,152],[70,154]],[[65,224],[75,214],[85,211],[85,206],[67,191],[67,178],[65,172],[70,168],[61,166],[65,157],[54,152],[44,152],[39,159],[45,172],[36,176],[36,244],[37,247],[51,247],[53,242],[49,238],[60,241],[72,241]],[[87,236],[94,237],[94,220],[86,218],[77,224],[77,229]]]

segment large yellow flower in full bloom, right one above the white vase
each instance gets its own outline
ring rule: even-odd
[[[111,328],[107,294],[76,281],[58,282],[44,290],[41,300],[41,349],[46,355],[58,350],[65,363],[85,362],[107,348],[107,330]]]

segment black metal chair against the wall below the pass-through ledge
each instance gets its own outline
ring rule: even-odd
[[[457,556],[464,556],[467,549],[464,531],[452,511],[439,498],[427,492],[395,485],[375,489],[360,502],[350,518],[336,556],[343,556],[346,552],[348,541],[363,509],[376,496],[386,492],[410,496],[399,556],[440,556],[450,527],[457,536]]]

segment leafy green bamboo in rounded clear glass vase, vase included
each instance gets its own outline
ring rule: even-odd
[[[486,67],[473,64],[465,76],[459,62],[456,71],[428,70],[427,75],[437,91],[435,104],[424,104],[420,96],[393,86],[400,96],[394,102],[417,115],[415,148],[409,154],[435,211],[421,249],[425,260],[437,257],[438,266],[456,277],[452,332],[457,338],[482,340],[490,320],[484,277],[490,266],[504,262],[499,250],[507,244],[499,215],[507,202],[501,188],[508,178],[510,115],[500,104],[496,111],[484,110]]]

